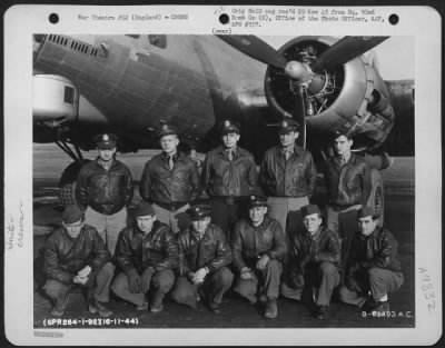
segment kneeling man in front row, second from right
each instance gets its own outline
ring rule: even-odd
[[[305,231],[290,240],[289,270],[281,284],[281,295],[301,301],[315,302],[315,316],[325,319],[330,296],[340,281],[340,243],[337,233],[322,225],[316,205],[301,208]]]

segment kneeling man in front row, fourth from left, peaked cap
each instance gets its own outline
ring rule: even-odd
[[[266,301],[266,318],[278,315],[277,298],[281,260],[286,256],[286,237],[279,222],[266,216],[267,199],[250,196],[249,219],[239,220],[234,228],[231,247],[239,278],[234,291],[250,304]]]

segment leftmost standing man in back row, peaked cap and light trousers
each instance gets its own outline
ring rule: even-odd
[[[118,235],[127,225],[132,179],[128,167],[115,158],[117,137],[101,133],[95,141],[99,156],[80,169],[77,200],[86,208],[86,223],[96,227],[113,255]]]

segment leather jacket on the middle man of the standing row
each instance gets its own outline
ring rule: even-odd
[[[230,161],[224,147],[207,153],[202,165],[202,186],[210,197],[240,197],[259,193],[254,156],[237,147]]]

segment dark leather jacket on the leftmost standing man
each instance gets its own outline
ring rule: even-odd
[[[128,206],[132,198],[131,172],[113,160],[106,170],[98,159],[82,166],[77,180],[78,202],[103,215],[113,215]]]

